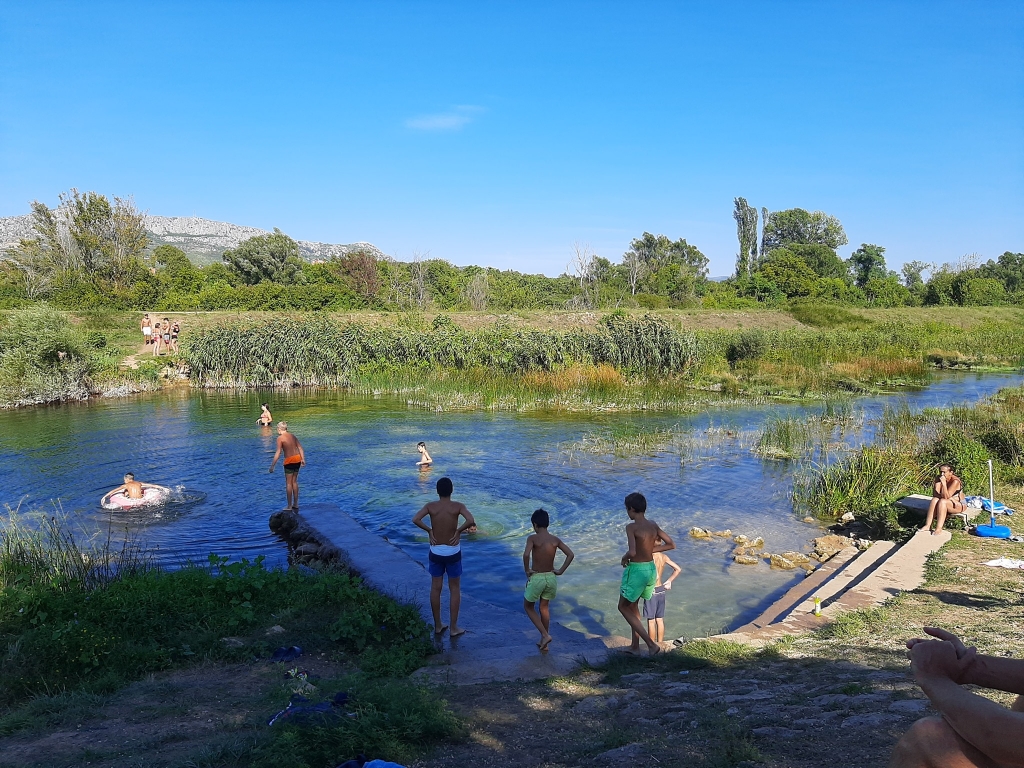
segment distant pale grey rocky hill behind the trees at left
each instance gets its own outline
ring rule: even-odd
[[[220,255],[242,241],[257,234],[269,234],[265,229],[253,226],[239,226],[224,221],[211,221],[198,216],[146,216],[145,227],[150,230],[150,247],[171,245],[180,248],[197,264],[210,264],[220,260]],[[33,238],[32,216],[0,217],[0,250],[16,245],[18,241]],[[303,258],[310,261],[344,256],[355,251],[366,251],[377,258],[384,253],[371,243],[312,243],[298,240]]]

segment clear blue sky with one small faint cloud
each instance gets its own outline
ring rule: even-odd
[[[561,272],[732,201],[1024,251],[1024,3],[0,3],[0,215],[69,187]]]

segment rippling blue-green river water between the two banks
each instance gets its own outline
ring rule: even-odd
[[[1021,376],[950,376],[921,392],[854,401],[853,411],[877,416],[900,399],[915,410],[964,402]],[[769,551],[806,550],[815,525],[798,520],[790,503],[784,463],[762,462],[749,440],[725,437],[711,458],[681,465],[678,454],[616,459],[564,450],[588,432],[611,424],[724,427],[750,434],[770,413],[800,414],[820,407],[773,406],[696,416],[435,414],[394,401],[336,393],[178,392],[87,404],[48,407],[0,415],[0,477],[4,501],[48,509],[59,498],[88,529],[108,519],[138,524],[138,513],[113,518],[99,497],[125,471],[142,480],[184,485],[205,500],[184,502],[141,519],[144,541],[162,558],[205,560],[213,551],[231,557],[266,554],[284,563],[284,549],[267,517],[284,506],[279,468],[266,472],[273,437],[255,426],[261,399],[286,418],[302,439],[309,464],[302,500],[334,502],[370,530],[386,536],[425,561],[426,539],[409,522],[435,498],[434,482],[450,475],[455,498],[476,516],[481,534],[465,545],[464,589],[519,609],[521,553],[529,515],[552,513],[552,531],[577,553],[553,603],[558,621],[596,633],[625,633],[615,611],[618,558],[628,521],[623,498],[647,496],[650,517],[676,538],[671,557],[683,572],[669,595],[669,636],[702,635],[752,617],[799,574],[731,562],[731,543],[696,541],[693,525],[763,536]],[[426,440],[435,464],[415,467],[417,440]],[[344,543],[340,543],[342,546]]]

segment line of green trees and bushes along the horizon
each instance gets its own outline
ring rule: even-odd
[[[274,230],[199,266],[170,245],[151,248],[130,199],[72,189],[32,204],[32,237],[0,254],[0,307],[45,300],[65,309],[169,311],[614,309],[786,307],[797,301],[853,307],[1022,306],[1024,254],[983,260],[907,262],[888,268],[883,246],[848,244],[821,211],[760,212],[734,200],[739,248],[730,278],[711,280],[709,260],[685,238],[643,232],[623,254],[566,249],[554,278],[443,259],[411,262],[364,250],[306,261]]]

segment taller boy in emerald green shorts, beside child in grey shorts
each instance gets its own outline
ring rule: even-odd
[[[640,617],[637,604],[642,597],[649,600],[654,594],[657,584],[657,568],[654,566],[654,553],[668,552],[675,549],[672,537],[662,530],[653,520],[648,520],[647,500],[642,494],[630,494],[626,497],[626,514],[630,522],[626,526],[626,541],[629,551],[623,555],[623,584],[618,590],[618,612],[633,630],[633,643],[630,650],[640,649],[640,639],[647,643],[650,655],[659,653],[662,646],[651,639]]]

